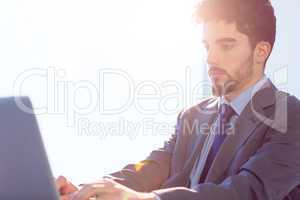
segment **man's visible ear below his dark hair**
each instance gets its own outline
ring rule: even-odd
[[[264,64],[271,53],[271,44],[269,42],[259,42],[254,50],[254,61],[257,64]]]

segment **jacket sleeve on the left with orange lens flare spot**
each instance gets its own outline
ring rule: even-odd
[[[177,117],[176,127],[179,127],[181,113]],[[175,133],[165,142],[163,148],[152,151],[145,160],[129,164],[121,171],[106,177],[140,192],[149,192],[160,188],[170,174],[170,163],[178,133],[176,128]]]

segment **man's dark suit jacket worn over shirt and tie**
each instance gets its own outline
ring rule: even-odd
[[[216,111],[215,97],[182,111],[163,148],[111,176],[137,191],[154,191],[162,200],[300,199],[300,102],[270,82],[239,116],[205,182],[189,188]]]

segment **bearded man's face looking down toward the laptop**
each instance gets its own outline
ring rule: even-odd
[[[204,23],[203,30],[213,94],[226,95],[245,87],[254,78],[253,49],[248,36],[239,32],[235,23],[225,21]]]

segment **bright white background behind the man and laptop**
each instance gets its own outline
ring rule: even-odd
[[[81,183],[145,158],[172,134],[177,113],[207,95],[207,87],[192,92],[207,86],[195,3],[0,1],[0,95],[32,98],[55,176]],[[274,6],[278,35],[267,74],[300,97],[300,3]],[[101,79],[104,69],[122,76]]]

